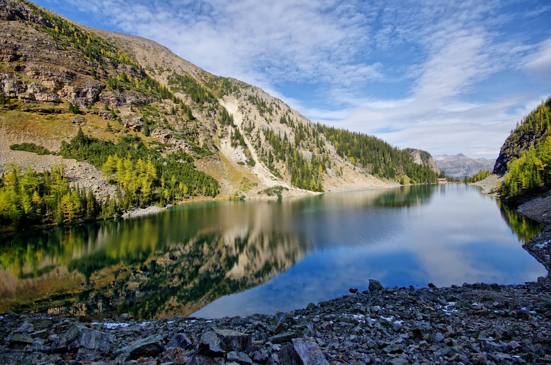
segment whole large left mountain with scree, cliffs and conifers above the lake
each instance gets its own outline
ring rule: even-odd
[[[0,0],[0,32],[0,167],[16,161],[42,171],[63,157],[61,176],[98,199],[115,185],[110,213],[436,179],[424,151],[417,159],[376,137],[316,125],[151,40],[81,26],[25,0]],[[63,214],[56,219],[73,217]]]

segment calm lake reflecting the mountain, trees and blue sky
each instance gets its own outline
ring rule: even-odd
[[[520,284],[540,227],[468,185],[179,205],[1,238],[0,311],[206,318],[383,286]]]

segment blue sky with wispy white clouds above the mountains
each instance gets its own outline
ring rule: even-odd
[[[155,40],[314,122],[433,155],[497,157],[551,95],[547,0],[40,0]]]

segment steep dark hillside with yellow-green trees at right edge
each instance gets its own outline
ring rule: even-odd
[[[506,139],[494,173],[503,171],[505,198],[551,183],[551,97],[528,114]]]

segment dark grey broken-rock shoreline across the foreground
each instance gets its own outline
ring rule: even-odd
[[[523,246],[548,272],[550,242],[548,226]],[[0,364],[551,363],[549,277],[428,286],[370,280],[305,309],[214,320],[2,313]]]

